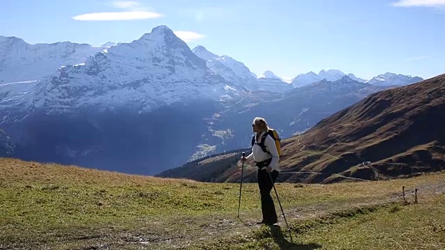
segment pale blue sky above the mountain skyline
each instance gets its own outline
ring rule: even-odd
[[[0,0],[0,35],[29,43],[131,42],[161,24],[258,75],[445,73],[445,0]]]

